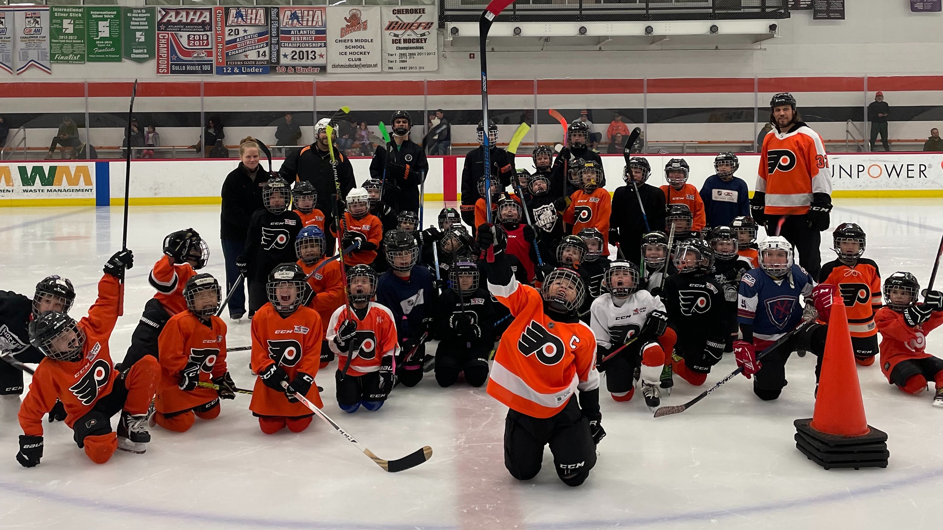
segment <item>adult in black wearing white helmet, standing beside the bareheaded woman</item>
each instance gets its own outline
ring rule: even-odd
[[[334,221],[332,201],[337,195],[337,190],[334,188],[334,170],[331,168],[331,155],[327,145],[328,125],[335,131],[331,140],[334,141],[334,156],[338,159],[340,195],[346,197],[348,191],[356,188],[354,166],[351,165],[350,158],[340,153],[337,145],[338,124],[328,118],[322,118],[314,126],[314,143],[292,152],[285,158],[285,162],[278,170],[278,173],[289,183],[295,180],[306,180],[314,185],[315,190],[318,190],[318,202],[315,207],[324,212],[324,226],[329,226]],[[333,239],[327,240],[325,256],[334,254],[334,243]]]

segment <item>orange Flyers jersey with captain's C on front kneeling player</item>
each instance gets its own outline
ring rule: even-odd
[[[514,321],[498,343],[488,393],[535,418],[559,412],[577,389],[599,388],[596,337],[586,323],[561,323],[543,312],[538,290],[513,276],[506,286],[488,283]]]

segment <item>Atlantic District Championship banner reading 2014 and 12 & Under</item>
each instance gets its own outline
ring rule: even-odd
[[[216,75],[268,74],[269,8],[213,8]]]

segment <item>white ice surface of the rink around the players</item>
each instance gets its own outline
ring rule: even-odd
[[[911,271],[926,283],[943,233],[943,201],[835,203],[833,226],[861,224],[869,237],[865,256],[885,276]],[[428,205],[426,225],[439,207]],[[137,265],[111,336],[116,361],[154,293],[146,278],[162,238],[188,226],[209,242],[206,271],[222,278],[219,207],[131,208],[128,247]],[[827,261],[834,255],[830,235],[823,235]],[[62,274],[78,291],[73,314],[82,315],[121,236],[120,207],[0,208],[0,289],[31,293],[44,275]],[[231,346],[249,343],[249,322],[227,323]],[[931,334],[929,344],[943,355],[943,332]],[[394,390],[380,411],[353,415],[334,399],[335,367],[318,373],[324,410],[377,455],[434,448],[430,461],[395,474],[318,420],[301,434],[262,434],[244,395],[188,433],[155,427],[145,455],[118,452],[105,465],[91,463],[57,422],[44,423],[41,465],[22,468],[13,457],[19,427],[7,422],[0,424],[0,527],[937,528],[943,410],[930,406],[931,393],[905,395],[887,385],[877,365],[859,368],[869,423],[889,436],[890,465],[826,472],[792,439],[793,420],[812,415],[814,362],[789,359],[789,384],[778,401],[760,401],[752,383],[738,377],[684,414],[658,420],[640,396],[617,404],[603,392],[608,437],[578,489],[557,480],[549,450],[536,479],[511,478],[502,452],[505,407],[484,389],[440,389],[432,373],[416,388]],[[236,382],[251,388],[247,363],[248,352],[229,356]],[[725,357],[706,385],[734,368]],[[679,380],[664,403],[683,403],[702,389]]]

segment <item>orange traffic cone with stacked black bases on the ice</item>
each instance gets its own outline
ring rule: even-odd
[[[793,424],[796,448],[826,470],[887,467],[887,435],[865,419],[848,315],[838,293],[829,317],[813,417]]]

